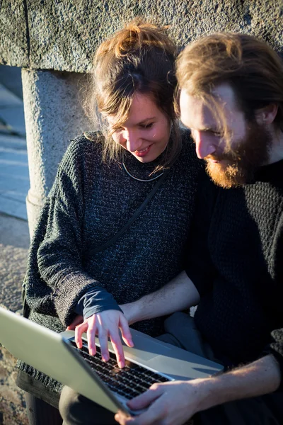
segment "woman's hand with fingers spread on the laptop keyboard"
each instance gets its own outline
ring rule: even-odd
[[[76,317],[74,322],[79,322],[80,317]],[[67,329],[74,326],[74,322]],[[74,328],[73,328],[74,329]],[[86,332],[88,338],[88,351],[91,356],[96,354],[96,335],[100,342],[101,356],[103,361],[109,360],[108,337],[112,343],[113,349],[117,357],[117,363],[120,368],[125,366],[125,356],[120,339],[119,329],[121,330],[122,339],[127,346],[132,347],[132,335],[129,330],[129,324],[125,315],[118,310],[105,310],[104,312],[93,314],[88,319],[75,327],[76,346],[81,348],[83,342],[81,335]]]

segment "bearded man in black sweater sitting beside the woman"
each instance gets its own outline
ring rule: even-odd
[[[283,65],[260,40],[219,33],[185,48],[177,77],[180,118],[219,188],[203,182],[186,273],[123,310],[134,322],[198,304],[197,329],[229,370],[153,385],[129,402],[146,412],[115,419],[283,424]]]

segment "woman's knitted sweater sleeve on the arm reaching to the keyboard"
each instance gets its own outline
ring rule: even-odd
[[[51,288],[55,310],[65,325],[83,294],[102,286],[83,269],[83,154],[83,143],[71,142],[48,197],[45,235],[37,249],[40,277]],[[103,291],[105,299],[108,293]],[[103,303],[101,292],[96,293],[98,304]]]

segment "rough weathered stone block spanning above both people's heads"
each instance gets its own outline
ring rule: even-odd
[[[101,40],[138,15],[169,24],[180,46],[225,30],[252,33],[283,52],[282,0],[3,0],[0,62],[89,72]]]

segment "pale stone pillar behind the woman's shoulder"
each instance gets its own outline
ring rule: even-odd
[[[22,70],[30,190],[26,198],[30,237],[69,140],[93,130],[83,113],[83,74]]]

